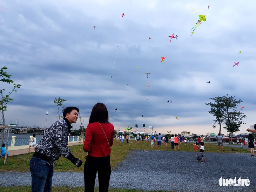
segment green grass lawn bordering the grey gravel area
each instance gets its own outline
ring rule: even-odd
[[[122,162],[123,159],[129,154],[131,150],[146,150],[146,151],[167,151],[166,144],[162,143],[160,149],[157,148],[157,142],[155,143],[154,148],[151,148],[151,141],[140,141],[136,143],[135,140],[129,140],[133,143],[126,143],[126,141],[122,144],[119,141],[117,142],[114,140],[114,144],[112,146],[112,152],[110,154],[110,163],[112,169],[114,169],[118,163]],[[191,151],[196,152],[193,150],[194,143],[187,143],[187,146],[184,144],[179,144],[180,151]],[[234,147],[226,147],[224,146],[225,151],[219,151],[218,145],[216,144],[209,144],[205,143],[204,145],[204,152],[220,152],[220,153],[250,153],[249,148],[234,148]],[[85,160],[85,152],[83,151],[83,145],[73,145],[69,147],[72,154]],[[230,151],[230,149],[235,149],[237,151]],[[171,144],[168,143],[168,151],[171,150]],[[31,159],[33,153],[26,153],[17,156],[10,156],[6,160],[6,164],[4,165],[4,159],[0,159],[0,172],[5,171],[17,171],[17,172],[29,172],[29,160]],[[54,165],[54,171],[70,171],[70,172],[83,172],[83,165],[79,168],[75,167],[69,160],[64,157],[61,157],[59,160],[56,161],[58,165]],[[31,186],[20,186],[20,187],[0,187],[0,191],[7,191],[7,192],[29,192],[31,191]],[[55,192],[82,192],[84,191],[83,187],[53,187]],[[95,189],[95,191],[99,191],[99,189]],[[131,190],[131,189],[109,189],[110,192],[140,192],[140,190]],[[164,192],[164,191],[155,191],[155,192]]]

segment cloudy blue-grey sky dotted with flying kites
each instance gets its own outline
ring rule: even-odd
[[[218,133],[206,103],[229,94],[243,101],[238,110],[243,106],[247,117],[237,133],[247,133],[256,123],[255,6],[238,0],[1,0],[0,66],[21,84],[5,122],[48,127],[57,120],[54,99],[60,97],[66,107],[80,108],[85,127],[101,102],[116,130],[137,124],[143,131],[146,124],[147,133],[150,125],[163,134],[205,135]],[[206,21],[191,35],[198,15]],[[178,37],[170,42],[172,34]],[[8,94],[12,85],[1,82],[0,88]]]

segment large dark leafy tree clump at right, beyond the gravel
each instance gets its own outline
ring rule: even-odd
[[[211,110],[208,112],[216,117],[214,122],[218,122],[220,125],[219,133],[221,133],[221,123],[224,123],[224,129],[231,133],[232,139],[232,133],[240,131],[240,126],[244,124],[243,118],[247,117],[246,115],[243,115],[241,111],[237,110],[238,105],[243,101],[241,99],[237,101],[235,97],[232,96],[220,96],[210,98],[209,100],[215,101],[215,103],[206,104],[211,106]],[[216,126],[213,125],[213,127]]]

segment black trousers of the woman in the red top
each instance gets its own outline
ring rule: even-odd
[[[99,191],[108,192],[111,174],[110,157],[87,156],[83,174],[85,177],[85,192],[94,192],[96,173],[98,172]]]

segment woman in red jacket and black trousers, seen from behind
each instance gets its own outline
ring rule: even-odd
[[[98,172],[99,191],[108,191],[111,174],[110,146],[115,136],[114,126],[108,122],[108,110],[105,104],[96,103],[87,125],[83,150],[88,152],[83,174],[85,191],[94,192],[96,173]]]

